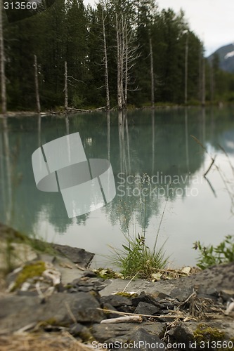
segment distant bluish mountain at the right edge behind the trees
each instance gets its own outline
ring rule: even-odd
[[[223,71],[234,73],[234,43],[218,48],[208,60],[211,60],[213,55],[219,55],[219,67]]]

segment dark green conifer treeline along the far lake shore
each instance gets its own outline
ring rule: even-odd
[[[183,12],[159,11],[153,0],[96,8],[56,0],[44,13],[6,20],[4,46],[8,108],[15,110],[35,108],[34,55],[43,109],[65,104],[65,62],[75,108],[227,100],[234,87],[232,74],[204,60]]]

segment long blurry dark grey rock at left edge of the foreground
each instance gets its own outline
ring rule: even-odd
[[[69,326],[77,322],[95,323],[105,319],[98,301],[90,293],[55,293],[40,303],[38,297],[6,296],[0,300],[0,327],[15,331],[33,322],[49,321]]]

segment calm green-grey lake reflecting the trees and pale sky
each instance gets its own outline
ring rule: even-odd
[[[231,107],[9,117],[0,128],[0,221],[20,232],[96,253],[98,267],[111,266],[110,246],[121,249],[124,234],[145,232],[152,247],[159,233],[171,267],[195,265],[195,241],[219,244],[234,234]],[[75,132],[87,159],[110,160],[116,196],[68,218],[59,192],[37,189],[32,153]]]

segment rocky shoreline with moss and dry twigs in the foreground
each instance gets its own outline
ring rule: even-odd
[[[82,350],[84,344],[89,350],[234,350],[234,263],[179,279],[129,281],[89,270],[93,253],[53,250],[31,252],[31,260],[8,274],[0,296],[0,350],[7,350],[7,336],[13,350],[15,336],[56,335],[58,341],[64,333],[48,350]],[[79,345],[60,349],[67,336]]]

